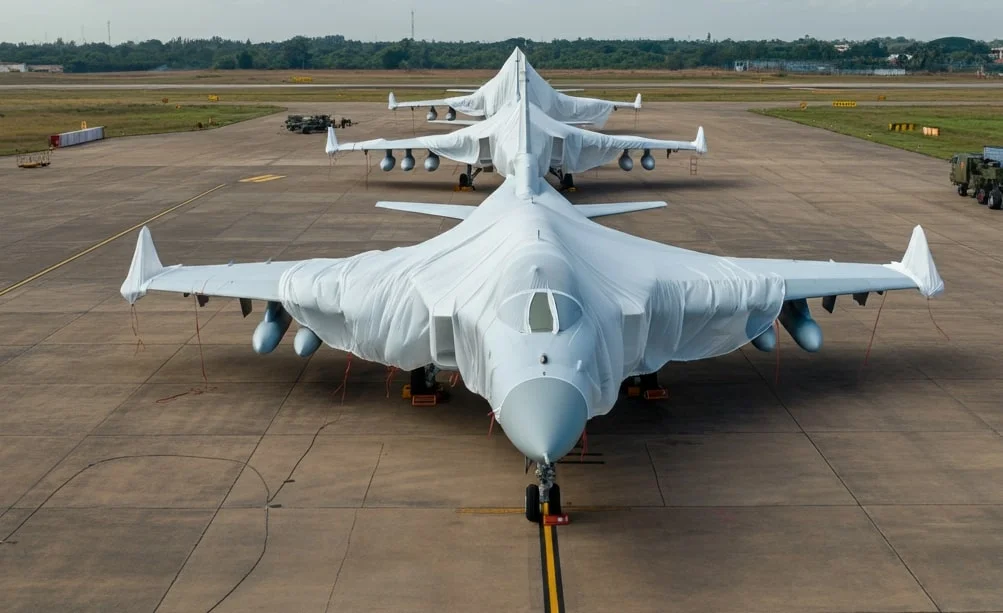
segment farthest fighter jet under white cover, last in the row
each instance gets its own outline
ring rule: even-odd
[[[540,74],[526,60],[526,54],[519,47],[512,52],[509,59],[501,65],[498,73],[491,77],[486,83],[477,89],[451,90],[464,92],[464,95],[451,96],[437,100],[413,100],[401,102],[390,92],[389,108],[417,108],[428,107],[425,117],[429,121],[441,123],[453,123],[469,125],[476,123],[476,120],[463,120],[456,118],[456,112],[461,112],[471,117],[487,118],[496,113],[516,99],[516,91],[519,88],[521,66],[526,66],[527,87],[526,91],[530,101],[536,104],[549,116],[574,125],[585,125],[588,123],[602,127],[606,124],[610,113],[618,108],[641,109],[641,94],[633,102],[613,102],[610,100],[600,100],[597,98],[586,98],[566,95],[564,91],[551,87],[551,84],[540,76]],[[438,118],[436,106],[447,108],[445,119]]]

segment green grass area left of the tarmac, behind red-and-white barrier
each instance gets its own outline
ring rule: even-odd
[[[0,156],[16,150],[40,150],[48,146],[49,134],[80,128],[104,126],[105,137],[155,134],[196,129],[198,122],[213,127],[236,123],[278,112],[279,106],[252,104],[183,104],[174,102],[136,103],[122,101],[73,100],[26,105],[0,104]]]

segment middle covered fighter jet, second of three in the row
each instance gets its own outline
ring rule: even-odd
[[[528,74],[524,85],[527,89],[530,88]],[[623,171],[631,171],[634,168],[634,161],[630,157],[631,150],[642,151],[641,167],[648,171],[655,168],[655,157],[651,154],[653,150],[664,150],[667,155],[678,150],[691,150],[700,155],[707,152],[703,127],[697,129],[696,138],[693,140],[662,140],[644,136],[604,134],[555,119],[532,98],[526,103],[529,108],[529,121],[532,123],[531,131],[537,134],[533,140],[532,152],[537,156],[541,170],[556,176],[564,189],[575,187],[575,174],[584,173],[614,160],[618,160]],[[521,101],[514,94],[509,103],[499,107],[487,119],[445,134],[397,139],[374,138],[361,142],[339,143],[334,129],[330,128],[327,130],[325,151],[328,156],[333,156],[339,151],[382,150],[384,156],[379,166],[388,173],[397,164],[393,156],[394,149],[403,149],[400,170],[405,172],[415,168],[412,151],[426,149],[428,156],[423,163],[426,171],[432,172],[438,169],[440,157],[465,164],[466,172],[460,174],[458,187],[470,188],[473,186],[473,180],[481,172],[491,172],[495,167],[505,167],[508,164],[506,157],[518,155],[515,144],[522,115]]]

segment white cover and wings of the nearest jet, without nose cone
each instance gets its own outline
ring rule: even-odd
[[[522,198],[517,179],[424,243],[344,259],[164,268],[143,229],[121,294],[280,302],[337,349],[402,369],[457,369],[495,409],[541,353],[587,356],[574,372],[557,359],[553,370],[587,377],[595,416],[613,407],[627,376],[744,345],[785,299],[943,289],[922,230],[902,263],[722,258],[591,222],[542,180]],[[576,333],[520,329],[537,290],[550,291],[562,330],[581,325]]]

